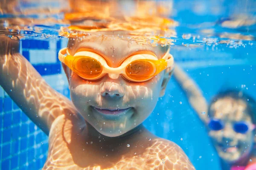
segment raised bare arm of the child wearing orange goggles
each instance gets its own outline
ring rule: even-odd
[[[76,113],[72,102],[52,89],[20,53],[20,41],[0,36],[0,85],[47,135],[63,113]]]

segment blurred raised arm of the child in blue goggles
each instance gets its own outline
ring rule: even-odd
[[[201,89],[178,65],[175,65],[174,77],[185,92],[190,105],[197,112],[199,118],[207,124],[207,101],[204,98]]]

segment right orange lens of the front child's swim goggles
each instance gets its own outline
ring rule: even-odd
[[[154,65],[146,60],[131,62],[126,68],[126,75],[134,80],[150,79],[154,73]]]

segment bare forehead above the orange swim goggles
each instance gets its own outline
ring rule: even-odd
[[[137,42],[122,40],[119,37],[111,36],[88,36],[83,40],[79,38],[70,38],[68,42],[68,51],[71,55],[74,55],[76,51],[81,48],[92,49],[110,60],[115,59],[116,61],[122,61],[122,59],[125,59],[138,51],[150,51],[160,59],[166,54],[169,47],[162,47],[161,45],[153,47],[151,44],[140,45],[137,44]]]

